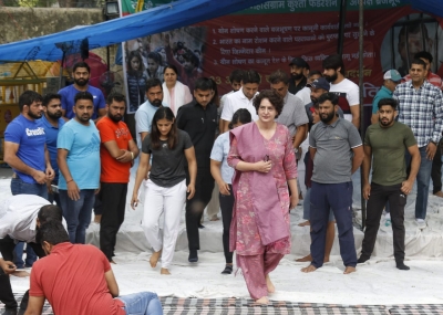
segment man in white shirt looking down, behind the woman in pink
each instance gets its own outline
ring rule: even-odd
[[[254,97],[258,94],[258,85],[260,85],[260,75],[255,70],[245,71],[241,77],[241,88],[226,96],[223,105],[222,120],[223,132],[229,130],[229,123],[234,113],[240,108],[249,111],[253,122],[258,119],[256,107],[254,107]]]

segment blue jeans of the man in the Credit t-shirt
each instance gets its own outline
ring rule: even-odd
[[[48,188],[45,185],[40,183],[28,183],[24,182],[20,177],[11,179],[11,193],[16,195],[37,195],[44,199],[48,199]],[[31,246],[27,246],[27,260],[23,262],[23,242],[19,242],[16,246],[16,259],[14,264],[18,267],[32,266],[32,264],[37,261],[37,254],[31,249]]]

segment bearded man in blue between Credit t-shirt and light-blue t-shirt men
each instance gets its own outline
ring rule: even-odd
[[[58,186],[59,183],[59,165],[56,164],[56,137],[59,136],[60,129],[64,125],[62,118],[62,96],[60,94],[49,93],[43,97],[43,111],[44,115],[41,120],[44,126],[44,134],[47,136],[47,148],[51,158],[51,166],[54,169],[55,176],[52,181],[48,181],[48,200],[53,202],[55,200],[56,206],[61,208],[59,192],[52,191],[51,183]]]

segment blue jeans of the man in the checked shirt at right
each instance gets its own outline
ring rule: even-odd
[[[419,174],[416,175],[416,199],[415,218],[426,219],[427,196],[431,180],[432,159],[426,158],[426,146],[419,148],[422,160],[420,161]],[[408,175],[411,170],[411,155],[405,154]]]

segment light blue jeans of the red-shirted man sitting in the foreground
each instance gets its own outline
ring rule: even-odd
[[[127,315],[163,315],[162,303],[153,292],[138,292],[117,297]]]

